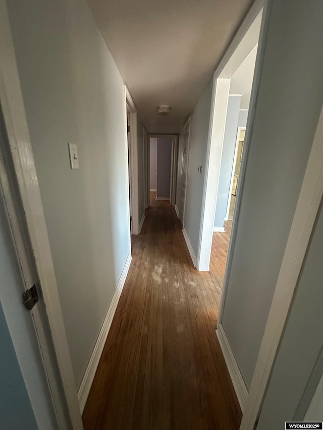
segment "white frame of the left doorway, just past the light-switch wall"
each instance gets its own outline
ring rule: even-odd
[[[137,108],[125,86],[127,113],[130,117],[130,142],[128,151],[129,164],[129,205],[131,205],[132,221],[130,223],[131,234],[139,234],[139,188],[138,188],[138,134],[137,134]],[[126,118],[127,124],[127,118]],[[126,125],[127,130],[127,125]],[[127,130],[128,139],[128,130]],[[130,207],[129,207],[130,214]]]

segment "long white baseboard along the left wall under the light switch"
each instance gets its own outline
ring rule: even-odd
[[[95,372],[103,351],[103,347],[107,338],[107,334],[109,333],[111,323],[113,320],[113,317],[115,315],[117,305],[121,296],[122,289],[125,285],[125,281],[127,278],[127,274],[129,271],[130,263],[131,263],[131,253],[129,253],[127,257],[127,261],[125,263],[125,266],[122,270],[116,291],[114,293],[114,296],[112,298],[111,304],[109,306],[109,310],[106,313],[106,316],[104,318],[100,333],[98,335],[98,338],[96,340],[96,343],[94,345],[94,349],[92,351],[92,355],[90,357],[90,360],[88,362],[88,365],[86,367],[82,382],[80,384],[80,387],[77,392],[77,396],[80,403],[80,410],[81,414],[83,413],[85,403],[87,400],[87,397],[89,395],[91,385],[95,376]]]

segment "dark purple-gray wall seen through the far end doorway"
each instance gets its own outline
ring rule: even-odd
[[[172,138],[157,138],[157,193],[158,198],[170,198]]]

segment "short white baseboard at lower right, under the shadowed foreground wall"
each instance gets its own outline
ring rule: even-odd
[[[241,411],[243,413],[244,406],[246,404],[246,400],[248,397],[248,390],[247,390],[246,384],[242,378],[240,369],[233,355],[232,349],[230,348],[230,345],[222,324],[219,324],[218,329],[216,330],[216,333],[219,339],[219,343],[222,349],[224,359],[228,367],[228,371],[231,377],[233,387],[235,389],[235,392],[241,407]]]

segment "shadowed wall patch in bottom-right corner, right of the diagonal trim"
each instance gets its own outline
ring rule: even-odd
[[[302,421],[323,371],[323,213],[320,211],[298,281],[257,430]],[[304,397],[306,393],[306,397]],[[320,411],[322,420],[323,409]]]

